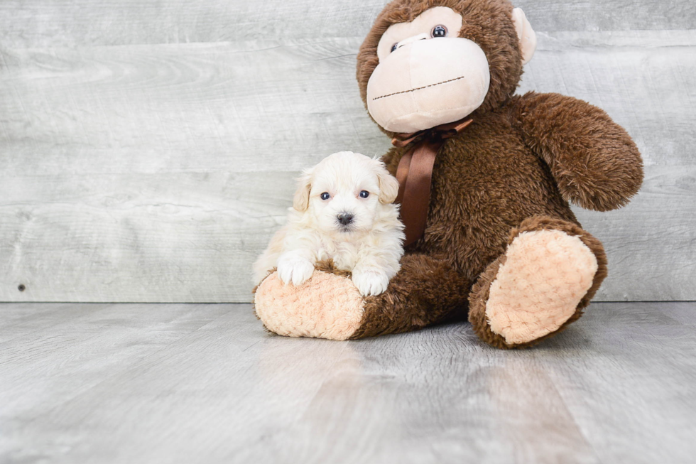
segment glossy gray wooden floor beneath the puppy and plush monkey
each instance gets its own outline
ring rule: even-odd
[[[533,350],[359,342],[249,305],[0,305],[2,463],[693,463],[696,303],[596,303]]]

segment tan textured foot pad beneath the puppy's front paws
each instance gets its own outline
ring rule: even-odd
[[[286,337],[347,340],[359,328],[364,300],[346,276],[315,270],[300,286],[273,272],[254,294],[256,315],[268,330]]]

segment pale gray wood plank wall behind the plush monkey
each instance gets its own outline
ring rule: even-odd
[[[250,300],[293,177],[383,153],[354,80],[384,0],[0,2],[0,301]],[[597,104],[636,139],[598,299],[696,299],[692,0],[519,0],[520,92]],[[18,291],[18,286],[25,291]]]

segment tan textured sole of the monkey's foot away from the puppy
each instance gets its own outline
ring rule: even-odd
[[[485,318],[479,320],[505,347],[560,329],[575,315],[598,269],[597,257],[580,237],[560,230],[522,232],[496,264]]]

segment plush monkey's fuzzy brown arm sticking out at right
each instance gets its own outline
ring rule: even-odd
[[[629,203],[641,188],[641,153],[602,109],[535,92],[513,100],[511,109],[525,143],[548,164],[565,200],[608,211]]]

